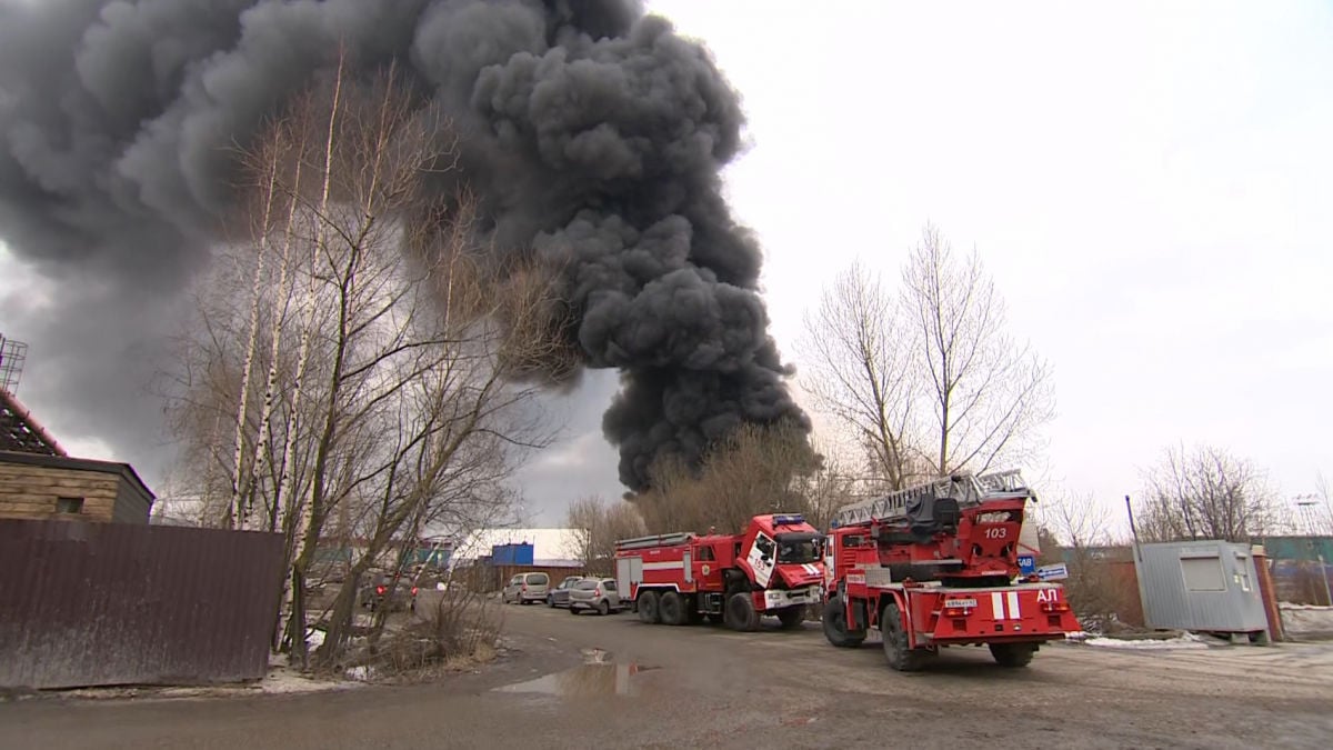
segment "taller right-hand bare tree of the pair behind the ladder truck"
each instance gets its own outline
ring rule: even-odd
[[[902,284],[934,411],[934,471],[982,472],[1030,455],[1036,428],[1054,414],[1049,368],[1006,332],[980,256],[958,258],[928,226]]]

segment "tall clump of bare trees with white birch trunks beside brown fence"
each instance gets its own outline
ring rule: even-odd
[[[425,188],[455,169],[452,133],[392,69],[369,83],[339,73],[297,99],[247,152],[263,236],[229,252],[255,274],[215,267],[183,336],[173,426],[221,470],[205,472],[221,484],[208,492],[233,518],[245,524],[260,503],[285,534],[296,662],[331,519],[367,543],[335,599],[324,665],[345,642],[363,573],[427,526],[467,528],[512,506],[505,479],[551,439],[536,386],[517,378],[555,346],[551,276],[497,268],[476,244],[471,194]],[[225,424],[241,438],[219,440]]]

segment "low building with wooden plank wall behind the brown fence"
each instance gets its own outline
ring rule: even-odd
[[[0,518],[148,523],[153,499],[127,463],[0,451]]]

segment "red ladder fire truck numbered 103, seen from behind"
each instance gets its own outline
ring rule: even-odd
[[[1041,643],[1080,630],[1058,583],[1020,571],[1034,500],[1014,470],[957,474],[841,508],[824,548],[824,635],[854,647],[877,629],[900,671],[965,645],[1026,666]]]

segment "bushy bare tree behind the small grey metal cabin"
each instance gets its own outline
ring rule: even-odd
[[[1214,446],[1173,447],[1144,472],[1144,508],[1136,514],[1148,542],[1248,542],[1277,520],[1276,494],[1246,459]]]

